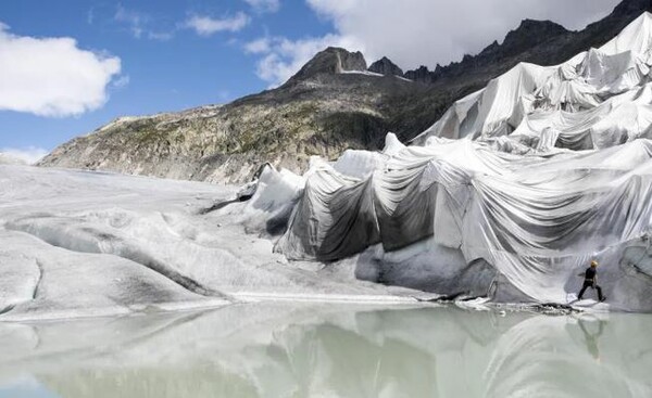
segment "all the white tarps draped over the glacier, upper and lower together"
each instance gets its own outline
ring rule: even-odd
[[[311,168],[277,249],[321,261],[373,252],[360,261],[394,274],[418,262],[435,279],[489,267],[557,303],[598,258],[610,303],[652,309],[651,46],[645,13],[562,65],[517,65],[412,146],[388,134],[383,153]]]

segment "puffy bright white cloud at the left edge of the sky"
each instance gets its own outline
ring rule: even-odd
[[[34,38],[0,23],[0,111],[79,115],[102,106],[121,60],[82,50],[72,38]]]

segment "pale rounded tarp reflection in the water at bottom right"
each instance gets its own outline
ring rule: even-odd
[[[645,344],[645,333],[640,329],[635,329],[638,334],[635,330],[626,333],[632,344],[625,347],[620,338],[627,337],[614,333],[617,322],[599,322],[604,331],[611,329],[611,335],[587,336],[569,317],[537,317],[512,328],[500,338],[487,368],[485,396],[649,396],[652,385],[647,377],[630,372],[651,358],[637,363],[629,359],[636,350],[632,346]],[[626,323],[626,319],[619,322]],[[577,341],[572,338],[574,335],[578,335]],[[603,347],[600,361],[594,357],[597,338]]]

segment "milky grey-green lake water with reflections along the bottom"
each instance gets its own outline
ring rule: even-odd
[[[0,397],[650,397],[650,330],[333,305],[0,324]]]

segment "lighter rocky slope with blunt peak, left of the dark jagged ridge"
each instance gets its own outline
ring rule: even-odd
[[[390,104],[419,88],[365,69],[362,54],[329,48],[277,89],[223,106],[121,118],[40,165],[239,182],[266,162],[299,170],[312,155],[377,147],[390,128]]]

